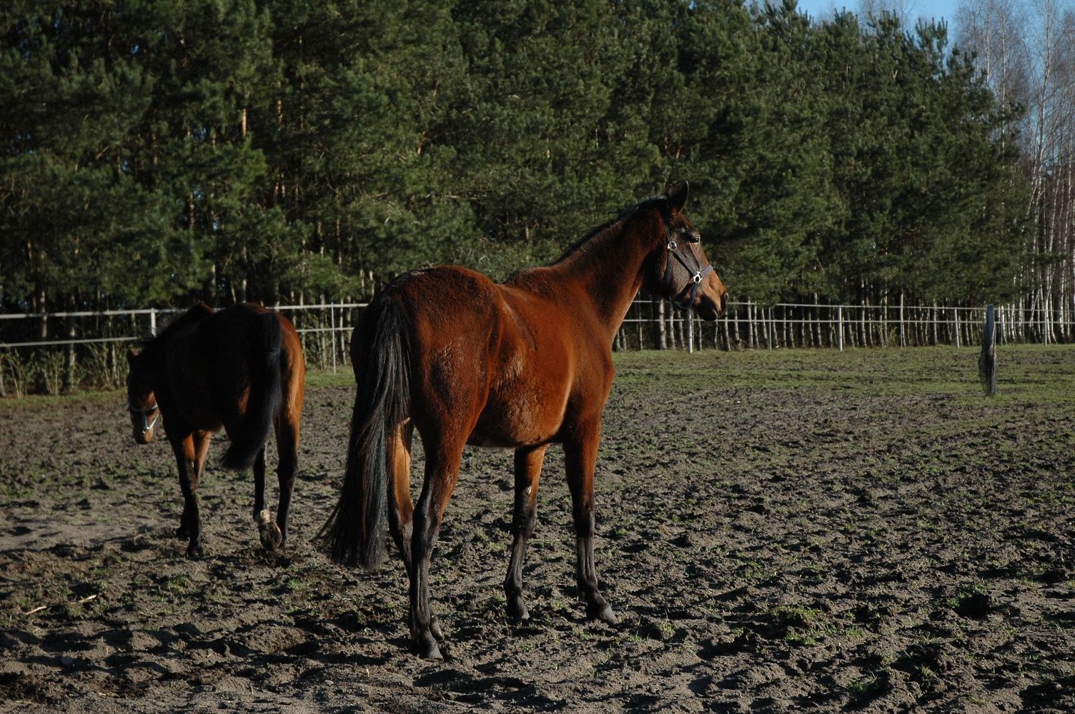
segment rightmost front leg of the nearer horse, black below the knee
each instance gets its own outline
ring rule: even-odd
[[[575,579],[578,591],[586,600],[588,617],[615,625],[616,614],[598,592],[598,572],[593,562],[593,470],[600,442],[601,422],[594,420],[574,431],[572,439],[563,445],[563,456],[575,523]]]

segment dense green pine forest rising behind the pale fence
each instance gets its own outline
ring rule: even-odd
[[[1001,76],[997,5],[9,0],[0,309],[503,278],[687,178],[735,298],[1070,311],[1075,151],[1036,122],[1075,112]]]

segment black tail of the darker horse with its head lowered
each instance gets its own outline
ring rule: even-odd
[[[231,446],[224,453],[220,465],[225,468],[246,470],[254,465],[258,452],[272,434],[273,422],[282,400],[280,355],[283,330],[275,312],[259,312],[249,333],[247,375],[250,396],[246,412],[235,426],[229,428]]]

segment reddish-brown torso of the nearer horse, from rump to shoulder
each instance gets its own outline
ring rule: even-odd
[[[465,431],[469,442],[497,447],[556,437],[577,354],[554,301],[458,266],[400,276],[377,300],[398,301],[407,316],[419,429],[428,421],[428,428]]]

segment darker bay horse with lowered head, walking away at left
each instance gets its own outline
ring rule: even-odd
[[[183,516],[176,536],[189,538],[187,557],[200,557],[198,484],[213,435],[223,427],[231,445],[221,466],[254,468],[254,520],[269,550],[287,542],[291,494],[299,464],[299,426],[306,374],[302,344],[291,322],[254,303],[219,312],[197,305],[159,335],[127,353],[127,407],[134,441],[153,439],[157,418],[180,466]],[[276,522],[264,510],[266,442],[276,433],[280,502]]]

